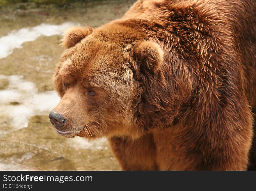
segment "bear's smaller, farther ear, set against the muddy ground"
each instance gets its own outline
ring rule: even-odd
[[[65,32],[65,36],[62,39],[61,45],[66,48],[73,47],[83,38],[92,33],[92,31],[93,29],[89,26],[83,28],[80,26],[73,26],[72,28],[67,29],[67,31]]]

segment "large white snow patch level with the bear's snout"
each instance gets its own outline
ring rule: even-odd
[[[8,89],[0,90],[1,120],[7,119],[15,130],[27,127],[33,115],[48,115],[60,101],[55,91],[38,93],[35,84],[25,81],[23,76],[0,75],[0,78],[10,83]]]

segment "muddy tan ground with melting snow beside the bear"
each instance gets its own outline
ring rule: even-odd
[[[66,139],[49,122],[48,113],[59,100],[52,75],[63,52],[61,34],[40,35],[16,48],[11,47],[16,43],[11,34],[23,38],[21,29],[31,31],[42,23],[97,27],[121,17],[134,2],[79,2],[62,8],[16,3],[0,8],[0,42],[11,49],[0,59],[0,170],[120,169],[106,139]]]

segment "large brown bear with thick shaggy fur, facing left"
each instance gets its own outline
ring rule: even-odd
[[[254,0],[140,0],[73,27],[50,121],[67,138],[106,136],[123,170],[253,169],[255,23]]]

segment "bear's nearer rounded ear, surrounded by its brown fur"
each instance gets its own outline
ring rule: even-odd
[[[156,42],[140,41],[134,45],[133,52],[142,72],[157,73],[163,64],[164,52]]]

